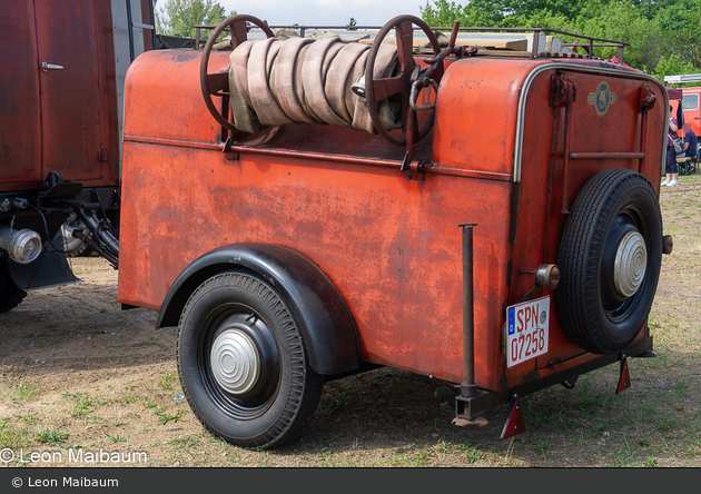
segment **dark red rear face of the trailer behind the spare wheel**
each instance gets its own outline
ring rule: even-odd
[[[567,219],[563,213],[564,186],[564,138],[565,126],[563,111],[559,111],[555,120],[553,108],[549,107],[549,80],[551,71],[542,72],[532,86],[529,105],[524,118],[524,161],[522,182],[517,195],[517,207],[514,209],[516,229],[512,250],[513,274],[511,280],[510,304],[520,302],[533,288],[534,276],[520,274],[532,271],[541,264],[556,264],[560,250],[560,239]],[[611,78],[605,80],[611,91],[616,93],[616,101],[609,106],[608,111],[600,116],[586,96],[594,92],[603,79],[592,73],[565,72],[564,77],[576,83],[577,98],[573,105],[573,127],[571,129],[571,152],[584,155],[583,158],[572,160],[567,180],[567,195],[575,198],[581,188],[598,171],[609,168],[629,168],[636,170],[635,159],[599,159],[596,154],[638,152],[641,149],[642,126],[641,116],[636,108],[640,98],[640,87],[645,81],[630,78]],[[659,170],[662,162],[663,148],[658,141],[660,129],[664,128],[664,95],[663,89],[648,85],[658,98],[658,105],[650,111],[645,136],[645,168],[641,170],[659,190]],[[635,119],[635,115],[638,118]],[[631,118],[631,116],[633,118]],[[633,125],[621,126],[621,121],[632,121]],[[553,146],[553,127],[555,144]],[[551,156],[552,155],[552,156]],[[527,159],[525,159],[527,157]],[[625,156],[623,157],[625,158]],[[552,172],[552,177],[551,177]],[[549,189],[551,192],[549,194]],[[543,289],[542,295],[551,295],[557,302],[557,290]],[[510,383],[546,376],[553,372],[549,367],[556,359],[565,362],[575,359],[584,352],[573,345],[562,332],[557,312],[551,310],[550,352],[527,364],[505,368],[504,373]],[[642,334],[640,335],[642,336]],[[566,368],[566,365],[564,366]],[[529,373],[536,370],[532,376]],[[557,370],[561,370],[559,367]]]

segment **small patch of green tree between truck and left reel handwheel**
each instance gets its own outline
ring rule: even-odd
[[[213,0],[166,0],[155,14],[157,32],[185,38],[195,37],[195,26],[216,26],[227,18],[224,7]]]

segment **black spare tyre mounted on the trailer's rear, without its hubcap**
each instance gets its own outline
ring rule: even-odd
[[[645,274],[629,297],[615,292],[613,261],[625,231],[638,230],[646,249]],[[662,263],[662,215],[642,175],[601,171],[577,195],[564,228],[555,292],[567,337],[594,354],[614,354],[635,338],[650,314]]]

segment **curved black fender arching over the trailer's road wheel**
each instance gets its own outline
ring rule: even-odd
[[[170,286],[156,326],[177,326],[192,292],[233,268],[261,276],[280,294],[300,326],[309,365],[317,374],[330,376],[359,368],[356,327],[340,294],[309,259],[278,245],[241,243],[204,254]]]

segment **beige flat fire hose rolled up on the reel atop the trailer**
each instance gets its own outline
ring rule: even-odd
[[[367,101],[350,86],[365,73],[371,47],[338,38],[247,40],[229,56],[234,126],[255,134],[267,126],[334,125],[377,134]],[[397,67],[396,47],[382,43],[374,73],[388,78]],[[377,105],[387,130],[402,127],[396,103]]]

